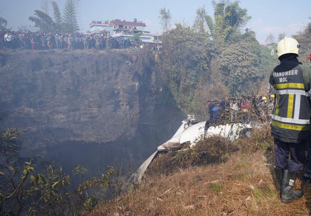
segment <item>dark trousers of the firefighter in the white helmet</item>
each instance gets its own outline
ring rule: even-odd
[[[299,173],[306,162],[309,140],[300,143],[286,143],[274,138],[275,167],[286,169],[289,172]],[[290,159],[288,160],[288,154]]]

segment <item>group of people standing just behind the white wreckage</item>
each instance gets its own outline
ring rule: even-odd
[[[210,124],[250,121],[254,117],[270,120],[274,105],[274,94],[251,95],[240,98],[222,98],[208,101]]]

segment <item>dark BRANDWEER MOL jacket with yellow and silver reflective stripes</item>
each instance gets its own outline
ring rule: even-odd
[[[273,71],[269,82],[276,89],[272,136],[290,143],[309,138],[311,68],[297,65],[288,71]]]

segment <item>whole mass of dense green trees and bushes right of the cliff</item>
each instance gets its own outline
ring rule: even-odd
[[[249,19],[237,1],[214,2],[213,19],[199,8],[192,27],[164,33],[160,71],[182,111],[204,118],[207,100],[258,93],[278,61],[254,31],[242,30]]]

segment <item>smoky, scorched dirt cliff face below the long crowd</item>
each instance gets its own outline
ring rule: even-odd
[[[0,60],[3,124],[26,130],[32,154],[138,165],[183,118],[148,51],[21,50]]]

